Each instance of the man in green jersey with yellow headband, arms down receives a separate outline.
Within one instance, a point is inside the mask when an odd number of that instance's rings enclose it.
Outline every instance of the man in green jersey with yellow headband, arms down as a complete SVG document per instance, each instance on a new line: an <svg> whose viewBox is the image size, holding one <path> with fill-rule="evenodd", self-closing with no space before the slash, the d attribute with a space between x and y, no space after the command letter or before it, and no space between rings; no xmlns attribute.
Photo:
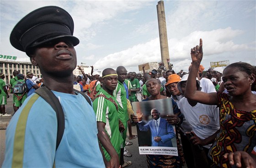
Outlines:
<svg viewBox="0 0 256 168"><path fill-rule="evenodd" d="M114 69L104 69L102 88L99 89L93 100L98 129L97 136L110 167L119 167L120 148L123 142L119 131L118 105L116 98L113 97L117 80L117 73Z"/></svg>

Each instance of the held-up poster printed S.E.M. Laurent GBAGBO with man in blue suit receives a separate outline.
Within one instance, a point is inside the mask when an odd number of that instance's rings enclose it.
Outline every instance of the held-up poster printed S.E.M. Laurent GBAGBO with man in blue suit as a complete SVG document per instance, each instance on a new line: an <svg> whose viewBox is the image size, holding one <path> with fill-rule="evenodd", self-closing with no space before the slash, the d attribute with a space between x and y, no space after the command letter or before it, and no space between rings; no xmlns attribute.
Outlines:
<svg viewBox="0 0 256 168"><path fill-rule="evenodd" d="M171 99L133 102L137 123L139 154L178 156L175 126L168 124L166 115L173 114ZM139 114L138 114L139 113Z"/></svg>

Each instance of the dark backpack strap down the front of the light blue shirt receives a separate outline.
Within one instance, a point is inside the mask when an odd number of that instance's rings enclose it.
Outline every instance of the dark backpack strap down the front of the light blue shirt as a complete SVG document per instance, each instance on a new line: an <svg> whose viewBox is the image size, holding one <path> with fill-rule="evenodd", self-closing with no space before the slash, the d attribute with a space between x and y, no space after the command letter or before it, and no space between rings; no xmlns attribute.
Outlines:
<svg viewBox="0 0 256 168"><path fill-rule="evenodd" d="M65 129L64 111L62 109L62 106L59 103L58 98L47 87L38 88L36 89L35 92L39 94L49 105L51 105L53 110L56 112L57 124L58 124L57 141L56 141L56 150L57 150Z"/></svg>

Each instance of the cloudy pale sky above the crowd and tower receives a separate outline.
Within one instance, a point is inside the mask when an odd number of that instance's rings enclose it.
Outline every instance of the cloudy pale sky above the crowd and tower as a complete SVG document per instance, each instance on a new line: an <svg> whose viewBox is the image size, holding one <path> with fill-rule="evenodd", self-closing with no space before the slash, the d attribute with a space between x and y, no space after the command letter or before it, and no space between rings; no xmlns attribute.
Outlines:
<svg viewBox="0 0 256 168"><path fill-rule="evenodd" d="M138 72L139 64L160 62L156 0L0 0L0 54L27 61L11 46L11 30L22 17L56 5L73 17L78 65L95 69L123 65ZM165 0L169 53L174 70L187 71L190 49L203 39L203 66L229 60L256 65L256 0Z"/></svg>

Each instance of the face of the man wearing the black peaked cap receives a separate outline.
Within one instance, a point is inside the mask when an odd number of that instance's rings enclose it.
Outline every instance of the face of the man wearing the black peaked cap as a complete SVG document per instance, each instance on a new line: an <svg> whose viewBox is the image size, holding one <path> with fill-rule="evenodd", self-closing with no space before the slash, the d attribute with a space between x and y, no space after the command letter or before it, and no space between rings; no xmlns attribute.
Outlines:
<svg viewBox="0 0 256 168"><path fill-rule="evenodd" d="M57 39L41 45L31 55L31 63L38 65L42 74L66 77L76 68L76 52L69 39Z"/></svg>

